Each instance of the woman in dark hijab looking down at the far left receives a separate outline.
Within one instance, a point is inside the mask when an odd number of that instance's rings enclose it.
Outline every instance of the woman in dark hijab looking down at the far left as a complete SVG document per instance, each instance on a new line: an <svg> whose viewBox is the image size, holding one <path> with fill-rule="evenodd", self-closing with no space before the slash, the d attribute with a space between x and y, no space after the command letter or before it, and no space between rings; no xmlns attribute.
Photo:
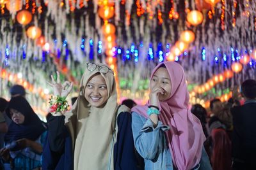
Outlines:
<svg viewBox="0 0 256 170"><path fill-rule="evenodd" d="M42 166L42 150L47 127L38 118L28 101L22 96L13 97L6 108L12 119L4 136L5 146L0 150L4 161L12 169L38 169ZM6 164L6 169L9 169Z"/></svg>

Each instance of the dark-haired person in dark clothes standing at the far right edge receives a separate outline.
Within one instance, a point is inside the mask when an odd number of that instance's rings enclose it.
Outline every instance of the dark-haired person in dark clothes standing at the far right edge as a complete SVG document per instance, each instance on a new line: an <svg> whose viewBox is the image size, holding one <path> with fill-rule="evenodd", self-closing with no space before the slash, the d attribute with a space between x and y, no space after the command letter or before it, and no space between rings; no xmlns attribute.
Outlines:
<svg viewBox="0 0 256 170"><path fill-rule="evenodd" d="M245 80L241 85L242 106L231 109L233 116L232 168L256 169L256 81Z"/></svg>

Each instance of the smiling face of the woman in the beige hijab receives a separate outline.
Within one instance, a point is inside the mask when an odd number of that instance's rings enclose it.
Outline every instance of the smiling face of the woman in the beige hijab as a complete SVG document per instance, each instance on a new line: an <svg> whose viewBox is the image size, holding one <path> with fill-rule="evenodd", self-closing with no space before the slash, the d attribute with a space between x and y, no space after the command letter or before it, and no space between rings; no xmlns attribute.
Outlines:
<svg viewBox="0 0 256 170"><path fill-rule="evenodd" d="M100 74L95 74L89 79L85 87L84 97L92 106L97 108L108 101L106 81Z"/></svg>

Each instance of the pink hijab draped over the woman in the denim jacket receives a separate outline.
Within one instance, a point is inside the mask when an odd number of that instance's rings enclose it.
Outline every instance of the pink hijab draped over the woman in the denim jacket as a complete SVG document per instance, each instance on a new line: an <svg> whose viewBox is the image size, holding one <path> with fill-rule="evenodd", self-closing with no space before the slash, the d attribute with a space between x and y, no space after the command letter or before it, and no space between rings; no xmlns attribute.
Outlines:
<svg viewBox="0 0 256 170"><path fill-rule="evenodd" d="M165 133L174 166L179 170L192 169L201 159L204 132L200 120L188 108L189 93L184 70L179 64L164 62L157 65L150 80L163 64L170 75L172 92L169 99L159 102L159 119L164 125L170 126L170 130ZM147 118L147 109L147 106L135 106L132 111Z"/></svg>

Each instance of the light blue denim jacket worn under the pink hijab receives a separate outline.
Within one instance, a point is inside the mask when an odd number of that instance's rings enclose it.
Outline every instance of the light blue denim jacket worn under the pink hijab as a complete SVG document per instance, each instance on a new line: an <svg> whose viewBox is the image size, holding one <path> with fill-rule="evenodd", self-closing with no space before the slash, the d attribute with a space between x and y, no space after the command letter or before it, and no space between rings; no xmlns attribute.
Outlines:
<svg viewBox="0 0 256 170"><path fill-rule="evenodd" d="M134 145L145 161L145 170L175 170L172 155L166 143L164 131L170 129L158 121L154 128L148 118L132 112L132 133ZM211 165L204 147L200 163L193 170L211 170Z"/></svg>

